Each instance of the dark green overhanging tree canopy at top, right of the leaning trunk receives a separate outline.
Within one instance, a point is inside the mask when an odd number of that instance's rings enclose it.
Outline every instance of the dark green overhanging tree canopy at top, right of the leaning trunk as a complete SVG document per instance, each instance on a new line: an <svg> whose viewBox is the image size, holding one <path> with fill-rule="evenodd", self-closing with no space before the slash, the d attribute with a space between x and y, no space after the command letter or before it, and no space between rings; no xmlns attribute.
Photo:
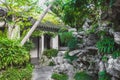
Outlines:
<svg viewBox="0 0 120 80"><path fill-rule="evenodd" d="M99 9L104 10L106 0L57 0L52 11L67 25L79 28L86 18L99 16Z"/></svg>

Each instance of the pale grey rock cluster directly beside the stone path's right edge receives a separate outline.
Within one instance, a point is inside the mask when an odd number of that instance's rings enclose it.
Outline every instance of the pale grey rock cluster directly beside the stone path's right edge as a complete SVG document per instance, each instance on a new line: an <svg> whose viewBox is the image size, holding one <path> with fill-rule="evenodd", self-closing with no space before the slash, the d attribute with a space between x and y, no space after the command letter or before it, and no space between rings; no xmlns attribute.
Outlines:
<svg viewBox="0 0 120 80"><path fill-rule="evenodd" d="M53 58L55 66L53 67L53 72L55 73L65 73L69 76L69 80L73 80L74 67L64 59L64 53L59 52L58 56Z"/></svg>

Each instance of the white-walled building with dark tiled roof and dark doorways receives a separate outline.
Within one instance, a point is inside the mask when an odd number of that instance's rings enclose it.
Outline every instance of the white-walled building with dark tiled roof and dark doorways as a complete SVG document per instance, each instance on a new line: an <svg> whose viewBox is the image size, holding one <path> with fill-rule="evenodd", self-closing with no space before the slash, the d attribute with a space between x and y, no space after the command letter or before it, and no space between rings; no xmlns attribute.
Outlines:
<svg viewBox="0 0 120 80"><path fill-rule="evenodd" d="M48 32L57 32L61 26L53 25L51 23L43 24L37 27L36 30L48 31ZM59 35L55 35L54 37L43 34L42 36L31 38L32 42L34 43L34 48L30 51L32 58L40 59L43 51L46 49L57 49L57 50L65 50L67 49L64 44L61 43Z"/></svg>

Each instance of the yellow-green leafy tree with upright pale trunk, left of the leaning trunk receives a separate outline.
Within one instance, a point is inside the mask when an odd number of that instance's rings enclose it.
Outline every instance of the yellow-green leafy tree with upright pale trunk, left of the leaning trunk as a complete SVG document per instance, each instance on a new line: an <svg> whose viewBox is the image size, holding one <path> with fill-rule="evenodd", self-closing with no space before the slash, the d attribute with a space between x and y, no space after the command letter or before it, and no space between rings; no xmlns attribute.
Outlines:
<svg viewBox="0 0 120 80"><path fill-rule="evenodd" d="M25 26L30 26L29 17L36 18L41 9L38 0L1 0L0 6L5 8L4 17L8 27L8 38L16 39L17 34Z"/></svg>

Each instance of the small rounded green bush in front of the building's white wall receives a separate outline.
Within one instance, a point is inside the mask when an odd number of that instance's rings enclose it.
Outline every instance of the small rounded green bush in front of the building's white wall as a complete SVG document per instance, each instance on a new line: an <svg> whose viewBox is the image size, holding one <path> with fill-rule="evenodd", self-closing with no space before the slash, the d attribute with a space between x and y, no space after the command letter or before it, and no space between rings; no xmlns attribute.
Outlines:
<svg viewBox="0 0 120 80"><path fill-rule="evenodd" d="M56 49L48 49L43 52L45 56L47 56L49 59L52 57L56 57L58 54L58 50Z"/></svg>

